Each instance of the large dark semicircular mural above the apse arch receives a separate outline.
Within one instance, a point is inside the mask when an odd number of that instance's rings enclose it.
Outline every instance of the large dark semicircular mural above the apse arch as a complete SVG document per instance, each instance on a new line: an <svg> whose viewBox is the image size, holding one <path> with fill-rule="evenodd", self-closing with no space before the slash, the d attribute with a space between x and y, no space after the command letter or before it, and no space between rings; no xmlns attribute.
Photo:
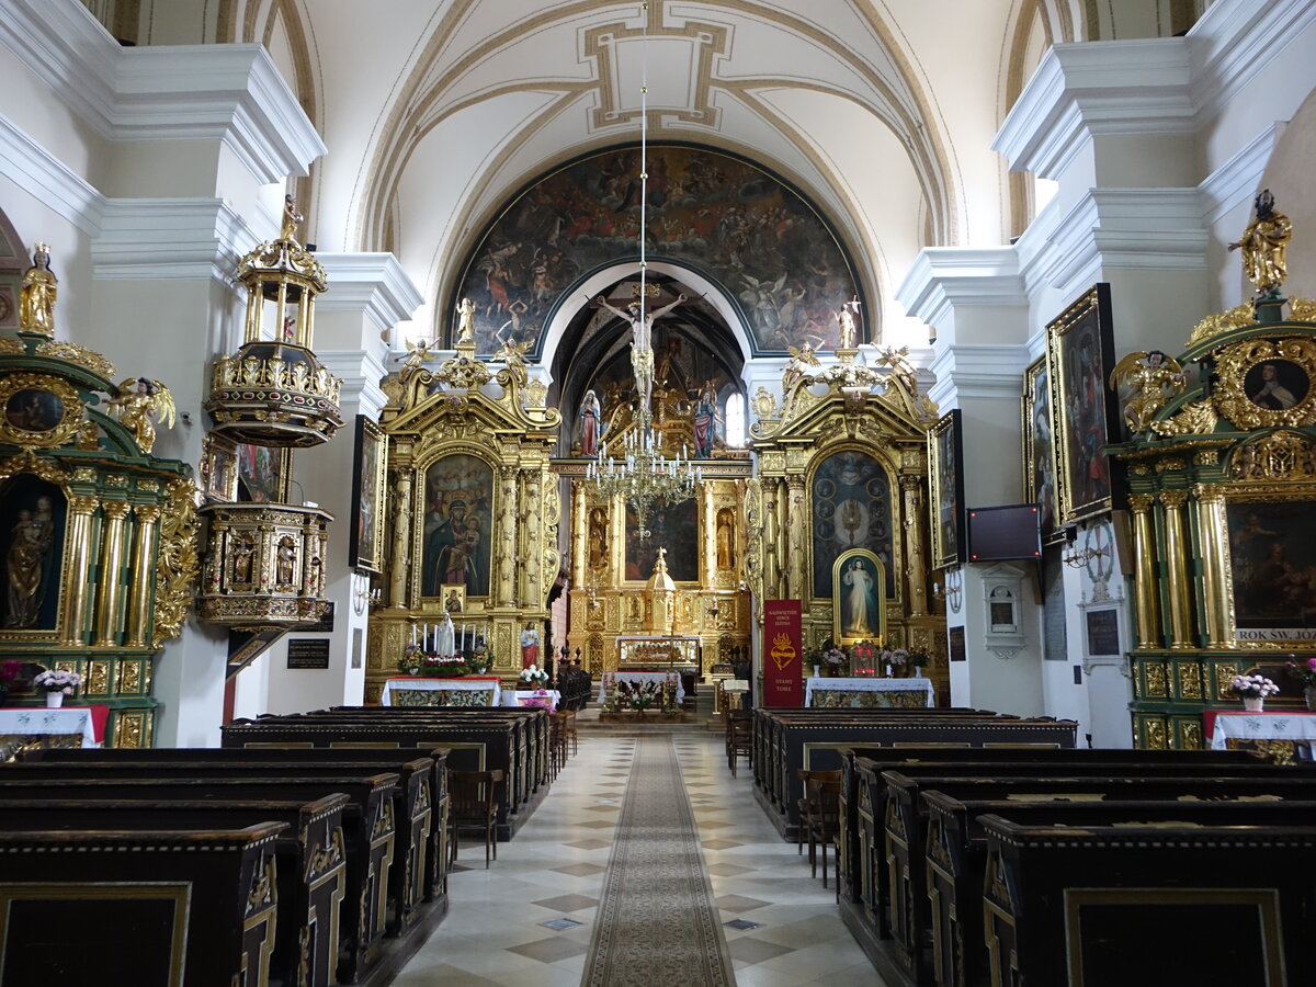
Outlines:
<svg viewBox="0 0 1316 987"><path fill-rule="evenodd" d="M840 345L836 313L858 286L809 203L767 172L707 149L650 146L647 174L650 262L670 261L717 282L758 353L784 353L805 340L816 349ZM595 154L541 179L499 216L467 262L457 299L475 303L476 350L496 350L501 332L536 341L538 351L562 299L590 272L638 259L638 238L637 149Z"/></svg>

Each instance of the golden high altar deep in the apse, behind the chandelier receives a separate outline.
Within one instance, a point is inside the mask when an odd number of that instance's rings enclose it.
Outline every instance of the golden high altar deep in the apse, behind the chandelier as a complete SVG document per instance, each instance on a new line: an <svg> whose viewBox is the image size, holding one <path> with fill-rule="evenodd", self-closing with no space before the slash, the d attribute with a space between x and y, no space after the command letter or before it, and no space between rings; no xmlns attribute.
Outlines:
<svg viewBox="0 0 1316 987"><path fill-rule="evenodd" d="M657 451L692 446L694 408L659 386L649 421ZM621 403L608 445L625 449L645 422ZM750 604L744 501L751 472L746 450L719 447L699 465L694 494L649 505L637 516L625 497L600 496L579 463L571 478L571 630L567 647L596 679L611 671L712 672L749 654ZM649 532L641 536L641 529Z"/></svg>

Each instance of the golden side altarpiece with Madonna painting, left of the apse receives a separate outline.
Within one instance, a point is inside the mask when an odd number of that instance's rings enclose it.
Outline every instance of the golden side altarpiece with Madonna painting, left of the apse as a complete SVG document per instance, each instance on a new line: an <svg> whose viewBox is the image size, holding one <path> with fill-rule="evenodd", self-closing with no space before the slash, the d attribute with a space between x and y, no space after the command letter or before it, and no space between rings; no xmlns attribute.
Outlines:
<svg viewBox="0 0 1316 987"><path fill-rule="evenodd" d="M503 676L521 670L522 629L547 620L561 562L549 457L562 418L545 407L547 388L529 379L522 353L504 346L491 367L462 338L428 368L420 345L384 380L388 482L367 703L397 674L416 629L438 624L445 607L459 638L487 642L490 671Z"/></svg>

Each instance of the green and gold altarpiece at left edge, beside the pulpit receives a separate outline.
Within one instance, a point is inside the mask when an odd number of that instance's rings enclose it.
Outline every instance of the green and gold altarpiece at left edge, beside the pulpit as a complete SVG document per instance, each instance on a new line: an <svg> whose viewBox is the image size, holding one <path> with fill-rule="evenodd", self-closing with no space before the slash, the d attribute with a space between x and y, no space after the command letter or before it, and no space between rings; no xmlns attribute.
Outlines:
<svg viewBox="0 0 1316 987"><path fill-rule="evenodd" d="M105 744L145 747L153 662L178 637L197 572L197 490L187 463L151 455L154 418L171 424L168 390L114 384L109 361L54 337L45 247L37 257L24 328L0 337L0 661L20 670L8 704L43 705L32 676L71 671L75 701L108 707ZM21 741L0 737L0 761Z"/></svg>

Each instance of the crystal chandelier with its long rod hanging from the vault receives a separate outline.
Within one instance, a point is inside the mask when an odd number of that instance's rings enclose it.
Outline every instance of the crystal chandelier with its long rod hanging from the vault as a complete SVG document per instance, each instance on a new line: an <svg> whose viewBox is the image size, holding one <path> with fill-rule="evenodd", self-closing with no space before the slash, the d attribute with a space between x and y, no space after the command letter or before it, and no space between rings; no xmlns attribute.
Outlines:
<svg viewBox="0 0 1316 987"><path fill-rule="evenodd" d="M636 374L636 391L640 401L640 428L628 432L622 441L620 457L608 455L608 443L600 442L594 462L586 467L586 480L599 497L621 497L636 512L638 536L647 538L649 515L655 507L679 504L691 497L695 484L703 479L703 471L690 462L684 454L667 458L653 429L653 340L649 321L653 316L645 312L649 292L645 287L647 262L645 257L645 229L649 209L649 4L641 4L642 66L640 75L640 297L636 301L636 317L632 318L634 342L630 347L630 363Z"/></svg>

